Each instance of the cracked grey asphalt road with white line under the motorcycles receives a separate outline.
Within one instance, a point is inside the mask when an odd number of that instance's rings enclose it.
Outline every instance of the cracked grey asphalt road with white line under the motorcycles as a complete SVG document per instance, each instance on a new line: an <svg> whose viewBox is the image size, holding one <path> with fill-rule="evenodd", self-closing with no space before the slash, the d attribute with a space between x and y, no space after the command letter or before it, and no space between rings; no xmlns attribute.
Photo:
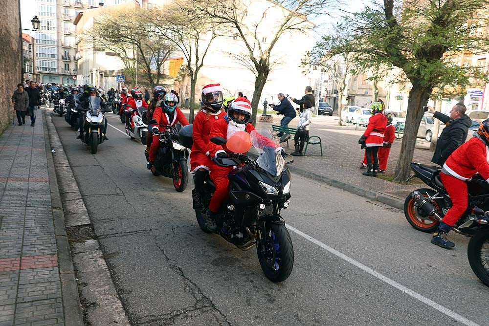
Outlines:
<svg viewBox="0 0 489 326"><path fill-rule="evenodd" d="M95 155L53 117L132 325L489 325L489 288L454 250L429 243L401 211L300 176L282 211L295 264L271 283L195 220L191 189L145 167L144 147L107 115ZM325 167L326 168L326 167Z"/></svg>

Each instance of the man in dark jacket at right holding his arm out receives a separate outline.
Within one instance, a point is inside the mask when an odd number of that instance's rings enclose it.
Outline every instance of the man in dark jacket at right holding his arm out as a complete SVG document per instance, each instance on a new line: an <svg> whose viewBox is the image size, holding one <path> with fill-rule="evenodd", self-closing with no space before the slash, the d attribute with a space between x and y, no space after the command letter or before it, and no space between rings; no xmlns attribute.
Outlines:
<svg viewBox="0 0 489 326"><path fill-rule="evenodd" d="M443 166L450 154L462 145L467 139L468 128L472 121L465 114L467 108L463 103L457 103L450 110L450 116L435 111L428 107L429 112L434 113L433 117L442 121L446 127L438 138L435 154L431 162Z"/></svg>

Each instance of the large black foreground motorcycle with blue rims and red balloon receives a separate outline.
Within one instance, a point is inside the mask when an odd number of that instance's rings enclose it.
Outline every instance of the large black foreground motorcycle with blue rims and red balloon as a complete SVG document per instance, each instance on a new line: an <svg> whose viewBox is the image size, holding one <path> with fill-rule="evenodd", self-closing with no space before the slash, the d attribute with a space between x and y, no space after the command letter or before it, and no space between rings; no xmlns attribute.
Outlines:
<svg viewBox="0 0 489 326"><path fill-rule="evenodd" d="M185 126L181 131L186 128L190 127ZM290 204L291 174L285 164L292 157L284 159L275 146L264 145L264 137L279 146L277 136L270 130L252 131L251 143L259 153L256 160L244 154L213 159L219 166L237 167L228 175L229 196L221 205L216 223L218 234L239 249L256 246L265 276L272 282L283 282L289 278L294 264L292 240L280 214ZM212 137L210 141L218 145L227 142L221 137ZM206 233L210 231L203 215L215 189L207 175L203 194L192 194L197 223Z"/></svg>

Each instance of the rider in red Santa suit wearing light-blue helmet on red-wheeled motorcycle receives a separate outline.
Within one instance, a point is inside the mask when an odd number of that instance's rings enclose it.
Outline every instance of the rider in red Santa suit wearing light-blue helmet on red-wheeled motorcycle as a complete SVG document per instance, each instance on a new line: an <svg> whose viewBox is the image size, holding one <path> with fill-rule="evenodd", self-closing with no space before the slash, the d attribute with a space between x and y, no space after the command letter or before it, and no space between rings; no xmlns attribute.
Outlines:
<svg viewBox="0 0 489 326"><path fill-rule="evenodd" d="M148 170L151 169L156 158L156 151L159 147L159 132L165 131L165 126L174 126L177 123L182 126L189 124L183 112L177 107L177 101L177 96L173 93L167 93L163 97L163 101L158 101L160 104L157 105L153 113L153 119L156 120L156 124L153 124L152 127L153 141L151 143L148 164L146 164Z"/></svg>

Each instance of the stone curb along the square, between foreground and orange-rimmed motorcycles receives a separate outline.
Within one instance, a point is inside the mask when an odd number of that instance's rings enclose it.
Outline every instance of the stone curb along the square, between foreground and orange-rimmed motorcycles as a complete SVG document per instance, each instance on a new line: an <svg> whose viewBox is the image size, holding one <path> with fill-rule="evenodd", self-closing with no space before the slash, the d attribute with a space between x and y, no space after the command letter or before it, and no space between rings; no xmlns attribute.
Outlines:
<svg viewBox="0 0 489 326"><path fill-rule="evenodd" d="M316 174L316 173L313 173L310 171L306 171L304 169L297 168L297 167L293 166L292 164L289 165L289 169L290 169L290 172L294 172L296 174L305 176L305 177L310 178L310 179L319 180L321 182L329 184L330 186L346 190L352 194L367 197L367 198L373 199L373 200L377 200L378 202L381 202L383 204L389 205L391 207L394 207L394 208L397 208L400 210L404 209L404 201L399 199L399 198L389 196L389 195L385 195L385 194L376 192L374 190L364 189L362 187L352 185L350 183L346 183L343 181L338 181L338 180L332 179L328 176L324 176L324 175Z"/></svg>

